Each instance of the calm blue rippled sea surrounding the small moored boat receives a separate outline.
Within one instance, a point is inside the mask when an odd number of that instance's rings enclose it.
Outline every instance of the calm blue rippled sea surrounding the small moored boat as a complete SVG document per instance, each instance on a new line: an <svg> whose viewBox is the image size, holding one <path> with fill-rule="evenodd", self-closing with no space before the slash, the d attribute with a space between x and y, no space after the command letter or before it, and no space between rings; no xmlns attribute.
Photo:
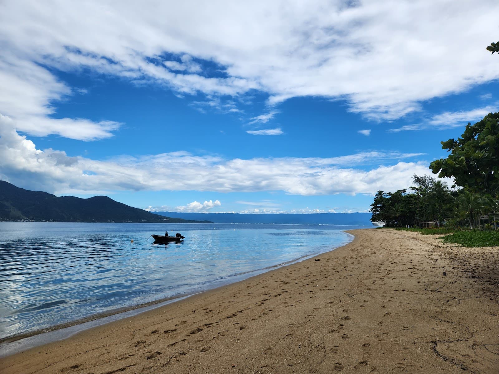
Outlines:
<svg viewBox="0 0 499 374"><path fill-rule="evenodd" d="M349 228L362 226L0 222L0 338L248 278ZM165 229L184 241L153 244Z"/></svg>

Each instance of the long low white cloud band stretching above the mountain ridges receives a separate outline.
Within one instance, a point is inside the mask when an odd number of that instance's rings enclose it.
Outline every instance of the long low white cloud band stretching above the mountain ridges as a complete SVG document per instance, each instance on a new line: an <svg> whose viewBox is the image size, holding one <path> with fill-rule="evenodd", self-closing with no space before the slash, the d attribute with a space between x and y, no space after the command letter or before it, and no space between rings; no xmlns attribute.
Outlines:
<svg viewBox="0 0 499 374"><path fill-rule="evenodd" d="M344 157L254 158L225 160L171 152L106 161L68 157L39 150L19 136L13 121L0 117L0 174L14 185L57 194L68 191L198 190L216 192L284 191L324 195L375 193L411 184L417 175L432 175L425 162L401 162L417 154L370 152ZM376 163L374 160L378 160ZM380 162L385 165L378 166ZM386 165L388 161L396 162ZM375 165L368 170L355 165ZM158 173L165 170L168 173ZM432 175L433 176L433 175ZM213 202L216 204L217 200ZM198 203L201 204L201 203ZM203 206L210 206L203 203ZM189 205L187 205L189 206ZM192 205L191 208L199 206ZM215 205L214 205L215 206Z"/></svg>

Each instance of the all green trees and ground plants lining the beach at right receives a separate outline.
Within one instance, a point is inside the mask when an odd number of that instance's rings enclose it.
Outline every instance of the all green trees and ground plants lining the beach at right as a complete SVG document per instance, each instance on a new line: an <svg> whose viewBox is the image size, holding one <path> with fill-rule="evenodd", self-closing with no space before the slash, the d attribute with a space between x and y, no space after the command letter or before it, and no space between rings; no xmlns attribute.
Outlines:
<svg viewBox="0 0 499 374"><path fill-rule="evenodd" d="M499 113L470 123L458 140L441 142L451 154L430 169L455 186L428 176L413 176L414 186L377 191L371 221L411 227L423 234L450 234L444 241L466 246L499 246Z"/></svg>

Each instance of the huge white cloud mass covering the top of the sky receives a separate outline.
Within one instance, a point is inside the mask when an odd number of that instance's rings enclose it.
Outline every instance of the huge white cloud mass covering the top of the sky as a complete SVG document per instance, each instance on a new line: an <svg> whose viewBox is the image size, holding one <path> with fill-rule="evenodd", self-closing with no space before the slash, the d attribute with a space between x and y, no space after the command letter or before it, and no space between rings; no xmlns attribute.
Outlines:
<svg viewBox="0 0 499 374"><path fill-rule="evenodd" d="M47 66L86 68L180 95L256 90L269 95L270 105L300 96L345 99L352 112L393 120L420 110L425 100L499 78L497 59L484 51L484 35L497 32L497 13L493 0L149 1L140 7L5 0L0 113L46 116L70 94ZM480 27L463 27L470 19ZM459 40L459 58L450 40Z"/></svg>

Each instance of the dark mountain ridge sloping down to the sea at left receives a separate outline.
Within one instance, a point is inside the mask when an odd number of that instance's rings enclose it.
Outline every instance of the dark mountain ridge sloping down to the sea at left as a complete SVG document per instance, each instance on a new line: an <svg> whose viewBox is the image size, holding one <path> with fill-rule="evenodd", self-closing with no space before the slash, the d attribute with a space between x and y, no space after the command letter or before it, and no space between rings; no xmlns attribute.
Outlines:
<svg viewBox="0 0 499 374"><path fill-rule="evenodd" d="M0 220L213 223L154 214L107 196L57 197L47 192L15 187L5 181L0 181Z"/></svg>

